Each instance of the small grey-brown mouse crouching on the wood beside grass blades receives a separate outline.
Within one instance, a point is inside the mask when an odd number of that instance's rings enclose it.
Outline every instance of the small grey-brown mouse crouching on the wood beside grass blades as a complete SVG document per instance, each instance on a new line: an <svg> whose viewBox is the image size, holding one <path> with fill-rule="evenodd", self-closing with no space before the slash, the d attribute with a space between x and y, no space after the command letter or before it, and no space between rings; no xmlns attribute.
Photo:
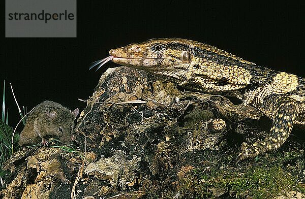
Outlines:
<svg viewBox="0 0 305 199"><path fill-rule="evenodd" d="M27 116L19 146L36 145L40 141L43 146L48 146L47 137L50 136L57 136L63 144L73 141L74 121L78 113L78 108L71 111L56 102L40 103Z"/></svg>

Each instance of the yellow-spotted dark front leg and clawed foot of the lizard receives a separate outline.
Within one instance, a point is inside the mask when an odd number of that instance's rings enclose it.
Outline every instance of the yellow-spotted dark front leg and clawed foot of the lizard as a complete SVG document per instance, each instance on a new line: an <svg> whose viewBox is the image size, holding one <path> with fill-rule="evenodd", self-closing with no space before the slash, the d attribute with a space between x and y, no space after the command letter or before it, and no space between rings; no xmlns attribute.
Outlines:
<svg viewBox="0 0 305 199"><path fill-rule="evenodd" d="M293 127L293 122L299 112L295 100L287 96L279 96L273 104L272 127L270 133L263 141L252 145L242 143L236 163L242 159L257 156L260 153L277 149L287 140Z"/></svg>

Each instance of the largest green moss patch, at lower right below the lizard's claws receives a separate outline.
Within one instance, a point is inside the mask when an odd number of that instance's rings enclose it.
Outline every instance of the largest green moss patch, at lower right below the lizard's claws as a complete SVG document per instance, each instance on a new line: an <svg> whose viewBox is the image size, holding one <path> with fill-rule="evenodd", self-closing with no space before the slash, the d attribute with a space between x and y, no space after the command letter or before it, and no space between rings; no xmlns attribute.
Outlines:
<svg viewBox="0 0 305 199"><path fill-rule="evenodd" d="M186 198L225 195L237 198L247 195L254 198L271 198L290 190L305 193L304 185L298 183L297 179L283 168L265 168L255 164L249 165L246 171L243 171L243 168L215 167L209 171L206 168L197 168L180 179L179 185L179 191Z"/></svg>

